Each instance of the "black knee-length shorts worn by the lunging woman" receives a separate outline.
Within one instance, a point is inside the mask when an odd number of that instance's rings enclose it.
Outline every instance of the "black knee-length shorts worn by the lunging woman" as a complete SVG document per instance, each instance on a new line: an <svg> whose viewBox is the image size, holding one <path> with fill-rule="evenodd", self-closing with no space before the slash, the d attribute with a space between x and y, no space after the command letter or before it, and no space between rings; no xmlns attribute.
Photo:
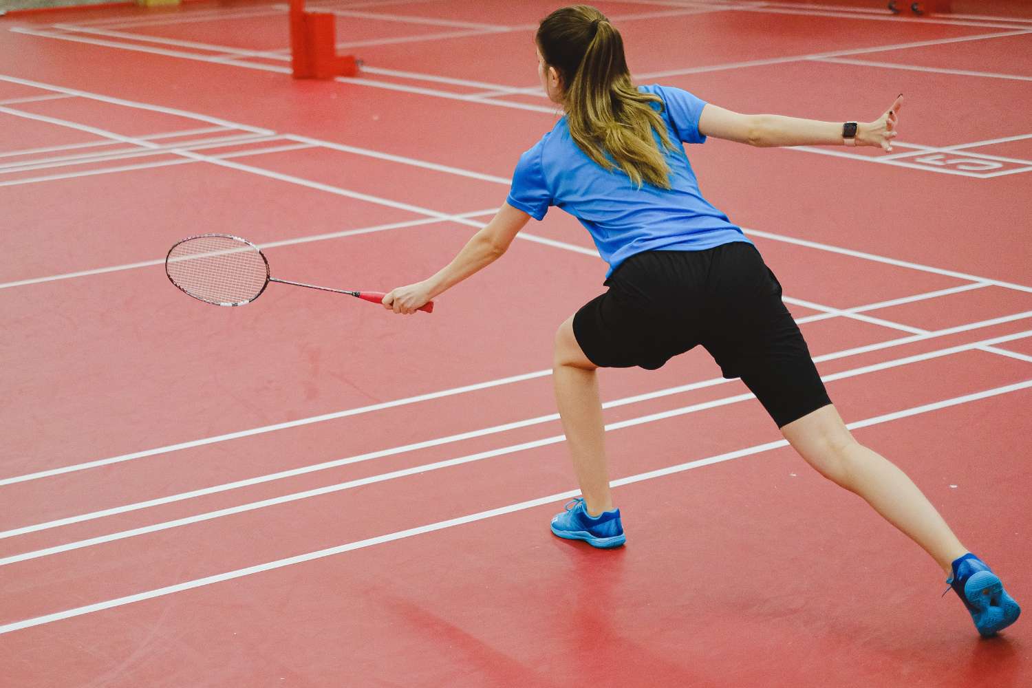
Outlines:
<svg viewBox="0 0 1032 688"><path fill-rule="evenodd" d="M831 403L781 285L751 243L648 251L606 280L574 316L600 367L654 370L702 345L724 378L741 378L778 427Z"/></svg>

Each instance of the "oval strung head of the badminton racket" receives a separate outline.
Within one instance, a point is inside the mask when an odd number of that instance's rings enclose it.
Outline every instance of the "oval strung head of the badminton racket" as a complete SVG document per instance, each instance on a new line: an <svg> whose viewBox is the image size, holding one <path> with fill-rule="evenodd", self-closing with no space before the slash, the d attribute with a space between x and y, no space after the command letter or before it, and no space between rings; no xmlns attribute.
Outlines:
<svg viewBox="0 0 1032 688"><path fill-rule="evenodd" d="M218 304L254 300L268 279L268 267L258 249L232 236L187 239L169 252L165 269L187 294Z"/></svg>

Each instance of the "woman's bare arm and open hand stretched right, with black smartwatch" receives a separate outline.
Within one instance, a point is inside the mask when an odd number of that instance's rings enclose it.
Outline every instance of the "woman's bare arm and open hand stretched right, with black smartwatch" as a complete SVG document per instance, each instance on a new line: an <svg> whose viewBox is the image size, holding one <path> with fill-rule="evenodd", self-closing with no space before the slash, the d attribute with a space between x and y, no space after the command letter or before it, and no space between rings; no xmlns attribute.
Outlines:
<svg viewBox="0 0 1032 688"><path fill-rule="evenodd" d="M857 127L857 145L879 145L892 151L903 95L874 122ZM842 122L801 120L781 114L741 114L707 103L699 118L699 133L757 146L843 145Z"/></svg>

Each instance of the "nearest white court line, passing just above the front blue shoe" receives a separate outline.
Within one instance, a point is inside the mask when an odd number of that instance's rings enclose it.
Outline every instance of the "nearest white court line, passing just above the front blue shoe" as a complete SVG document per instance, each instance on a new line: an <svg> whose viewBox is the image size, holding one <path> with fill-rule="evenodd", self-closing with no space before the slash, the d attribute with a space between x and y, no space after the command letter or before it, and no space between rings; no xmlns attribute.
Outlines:
<svg viewBox="0 0 1032 688"><path fill-rule="evenodd" d="M982 392L976 392L974 394L966 394L964 396L954 397L950 399L944 399L942 401L937 401L934 403L928 403L921 406L913 406L911 408L906 408L903 411L894 412L891 414L885 414L882 416L877 416L874 418L868 418L862 421L854 421L852 423L846 424L846 427L850 430L860 429L864 427L870 427L873 425L879 425L881 423L888 423L891 421L899 420L902 418L909 418L912 416L917 416L921 414L931 413L934 411L939 411L942 408L947 408L949 406L956 406L964 403L969 403L979 399L986 399L993 396L1007 394L1010 392L1015 392L1019 390L1027 389L1032 387L1032 381L1026 381L1023 383L1018 383L1014 385L1007 385L1004 387L997 387L990 390L985 390ZM716 456L711 456L705 459L699 459L696 461L689 461L686 463L681 463L674 466L669 466L666 468L659 468L657 470L650 470L648 472L638 473L636 476L628 476L626 478L621 478L613 481L611 484L614 487L619 487L622 485L631 485L633 483L640 483L647 480L652 480L655 478L662 478L665 476L671 476L674 473L682 472L685 470L690 470L692 468L699 468L705 465L711 465L714 463L719 463L722 461L729 461L732 459L741 458L743 456L749 456L754 454L760 454L763 452L778 449L780 447L786 447L787 441L780 439L777 441L766 443L763 445L755 445L746 449L738 450L735 452L729 452L727 454L719 454ZM32 619L25 619L23 621L15 621L12 623L4 624L0 626L0 634L9 633L15 630L21 630L24 628L31 628L33 626L39 626L42 624L53 623L55 621L61 621L63 619L70 619L73 617L83 616L85 614L91 614L94 612L100 612L103 610L108 610L117 607L123 607L125 604L131 604L133 602L143 601L147 599L154 599L155 597L162 597L165 595L170 595L176 592L183 592L185 590L192 590L195 588L200 588L203 586L213 585L215 583L221 583L224 581L230 581L245 576L251 576L253 574L259 574L266 570L272 570L276 568L283 568L285 566L290 566L293 564L303 563L305 561L312 561L315 559L322 559L324 557L332 556L335 554L343 554L344 552L350 552L353 550L359 550L367 547L373 547L376 545L382 545L384 543L390 543L397 539L402 539L406 537L412 537L414 535L420 535L428 532L433 532L436 530L442 530L445 528L451 528L454 526L464 525L466 523L474 523L476 521L482 521L484 519L493 518L495 516L503 516L506 514L512 514L514 512L519 512L527 509L533 509L536 506L542 506L544 504L549 504L557 501L562 501L565 499L570 499L571 497L580 494L578 490L570 490L567 492L561 492L558 494L552 494L545 497L540 497L538 499L531 499L528 501L522 501L515 504L509 504L508 506L502 506L498 509L492 509L489 511L479 512L477 514L470 514L467 516L462 516L459 518L448 519L446 521L438 521L436 523L419 526L416 528L409 528L406 530L399 530L396 532L388 533L386 535L379 535L377 537L369 537L366 539L361 539L353 543L348 543L346 545L341 545L337 547L327 548L323 550L318 550L316 552L310 552L307 554L301 554L293 557L288 557L285 559L278 559L276 561L268 561L262 564L256 564L254 566L248 566L246 568L238 568L232 571L226 571L224 574L218 574L216 576L207 576L200 579L195 579L193 581L188 581L185 583L180 583L176 585L170 585L163 588L157 588L154 590L148 590L146 592L136 593L133 595L127 595L124 597L119 597L116 599L108 599L102 602L96 602L93 604L87 604L84 607L78 607L75 609L64 610L61 612L56 612L54 614L47 614L44 616L35 617Z"/></svg>

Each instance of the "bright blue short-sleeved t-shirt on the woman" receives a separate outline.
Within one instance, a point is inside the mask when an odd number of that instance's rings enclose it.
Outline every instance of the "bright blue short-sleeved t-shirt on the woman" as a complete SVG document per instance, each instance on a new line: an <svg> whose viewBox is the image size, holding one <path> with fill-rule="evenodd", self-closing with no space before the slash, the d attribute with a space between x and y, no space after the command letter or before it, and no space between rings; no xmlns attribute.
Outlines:
<svg viewBox="0 0 1032 688"><path fill-rule="evenodd" d="M706 103L687 91L642 86L663 99L664 122L671 141L702 143L699 117ZM654 104L659 108L659 104ZM653 132L656 144L659 137ZM609 263L608 277L620 263L643 251L703 251L732 241L747 241L741 228L699 192L699 183L680 145L664 150L671 189L643 184L639 189L619 168L606 170L587 157L559 120L529 151L513 173L508 203L536 220L556 205L580 220Z"/></svg>

